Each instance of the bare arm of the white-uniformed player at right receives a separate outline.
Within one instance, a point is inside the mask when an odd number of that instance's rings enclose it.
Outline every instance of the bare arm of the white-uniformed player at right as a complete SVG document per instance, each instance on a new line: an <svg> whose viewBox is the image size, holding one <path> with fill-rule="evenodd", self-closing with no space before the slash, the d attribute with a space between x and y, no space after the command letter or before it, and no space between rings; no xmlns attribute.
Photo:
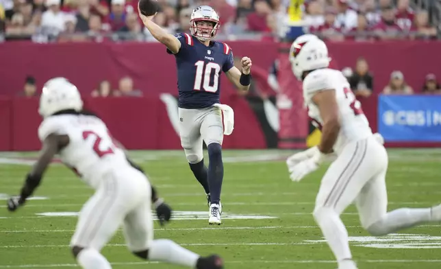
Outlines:
<svg viewBox="0 0 441 269"><path fill-rule="evenodd" d="M335 90L319 91L312 97L323 119L322 139L318 149L325 154L332 152L340 131L340 120L338 118L338 104Z"/></svg>

